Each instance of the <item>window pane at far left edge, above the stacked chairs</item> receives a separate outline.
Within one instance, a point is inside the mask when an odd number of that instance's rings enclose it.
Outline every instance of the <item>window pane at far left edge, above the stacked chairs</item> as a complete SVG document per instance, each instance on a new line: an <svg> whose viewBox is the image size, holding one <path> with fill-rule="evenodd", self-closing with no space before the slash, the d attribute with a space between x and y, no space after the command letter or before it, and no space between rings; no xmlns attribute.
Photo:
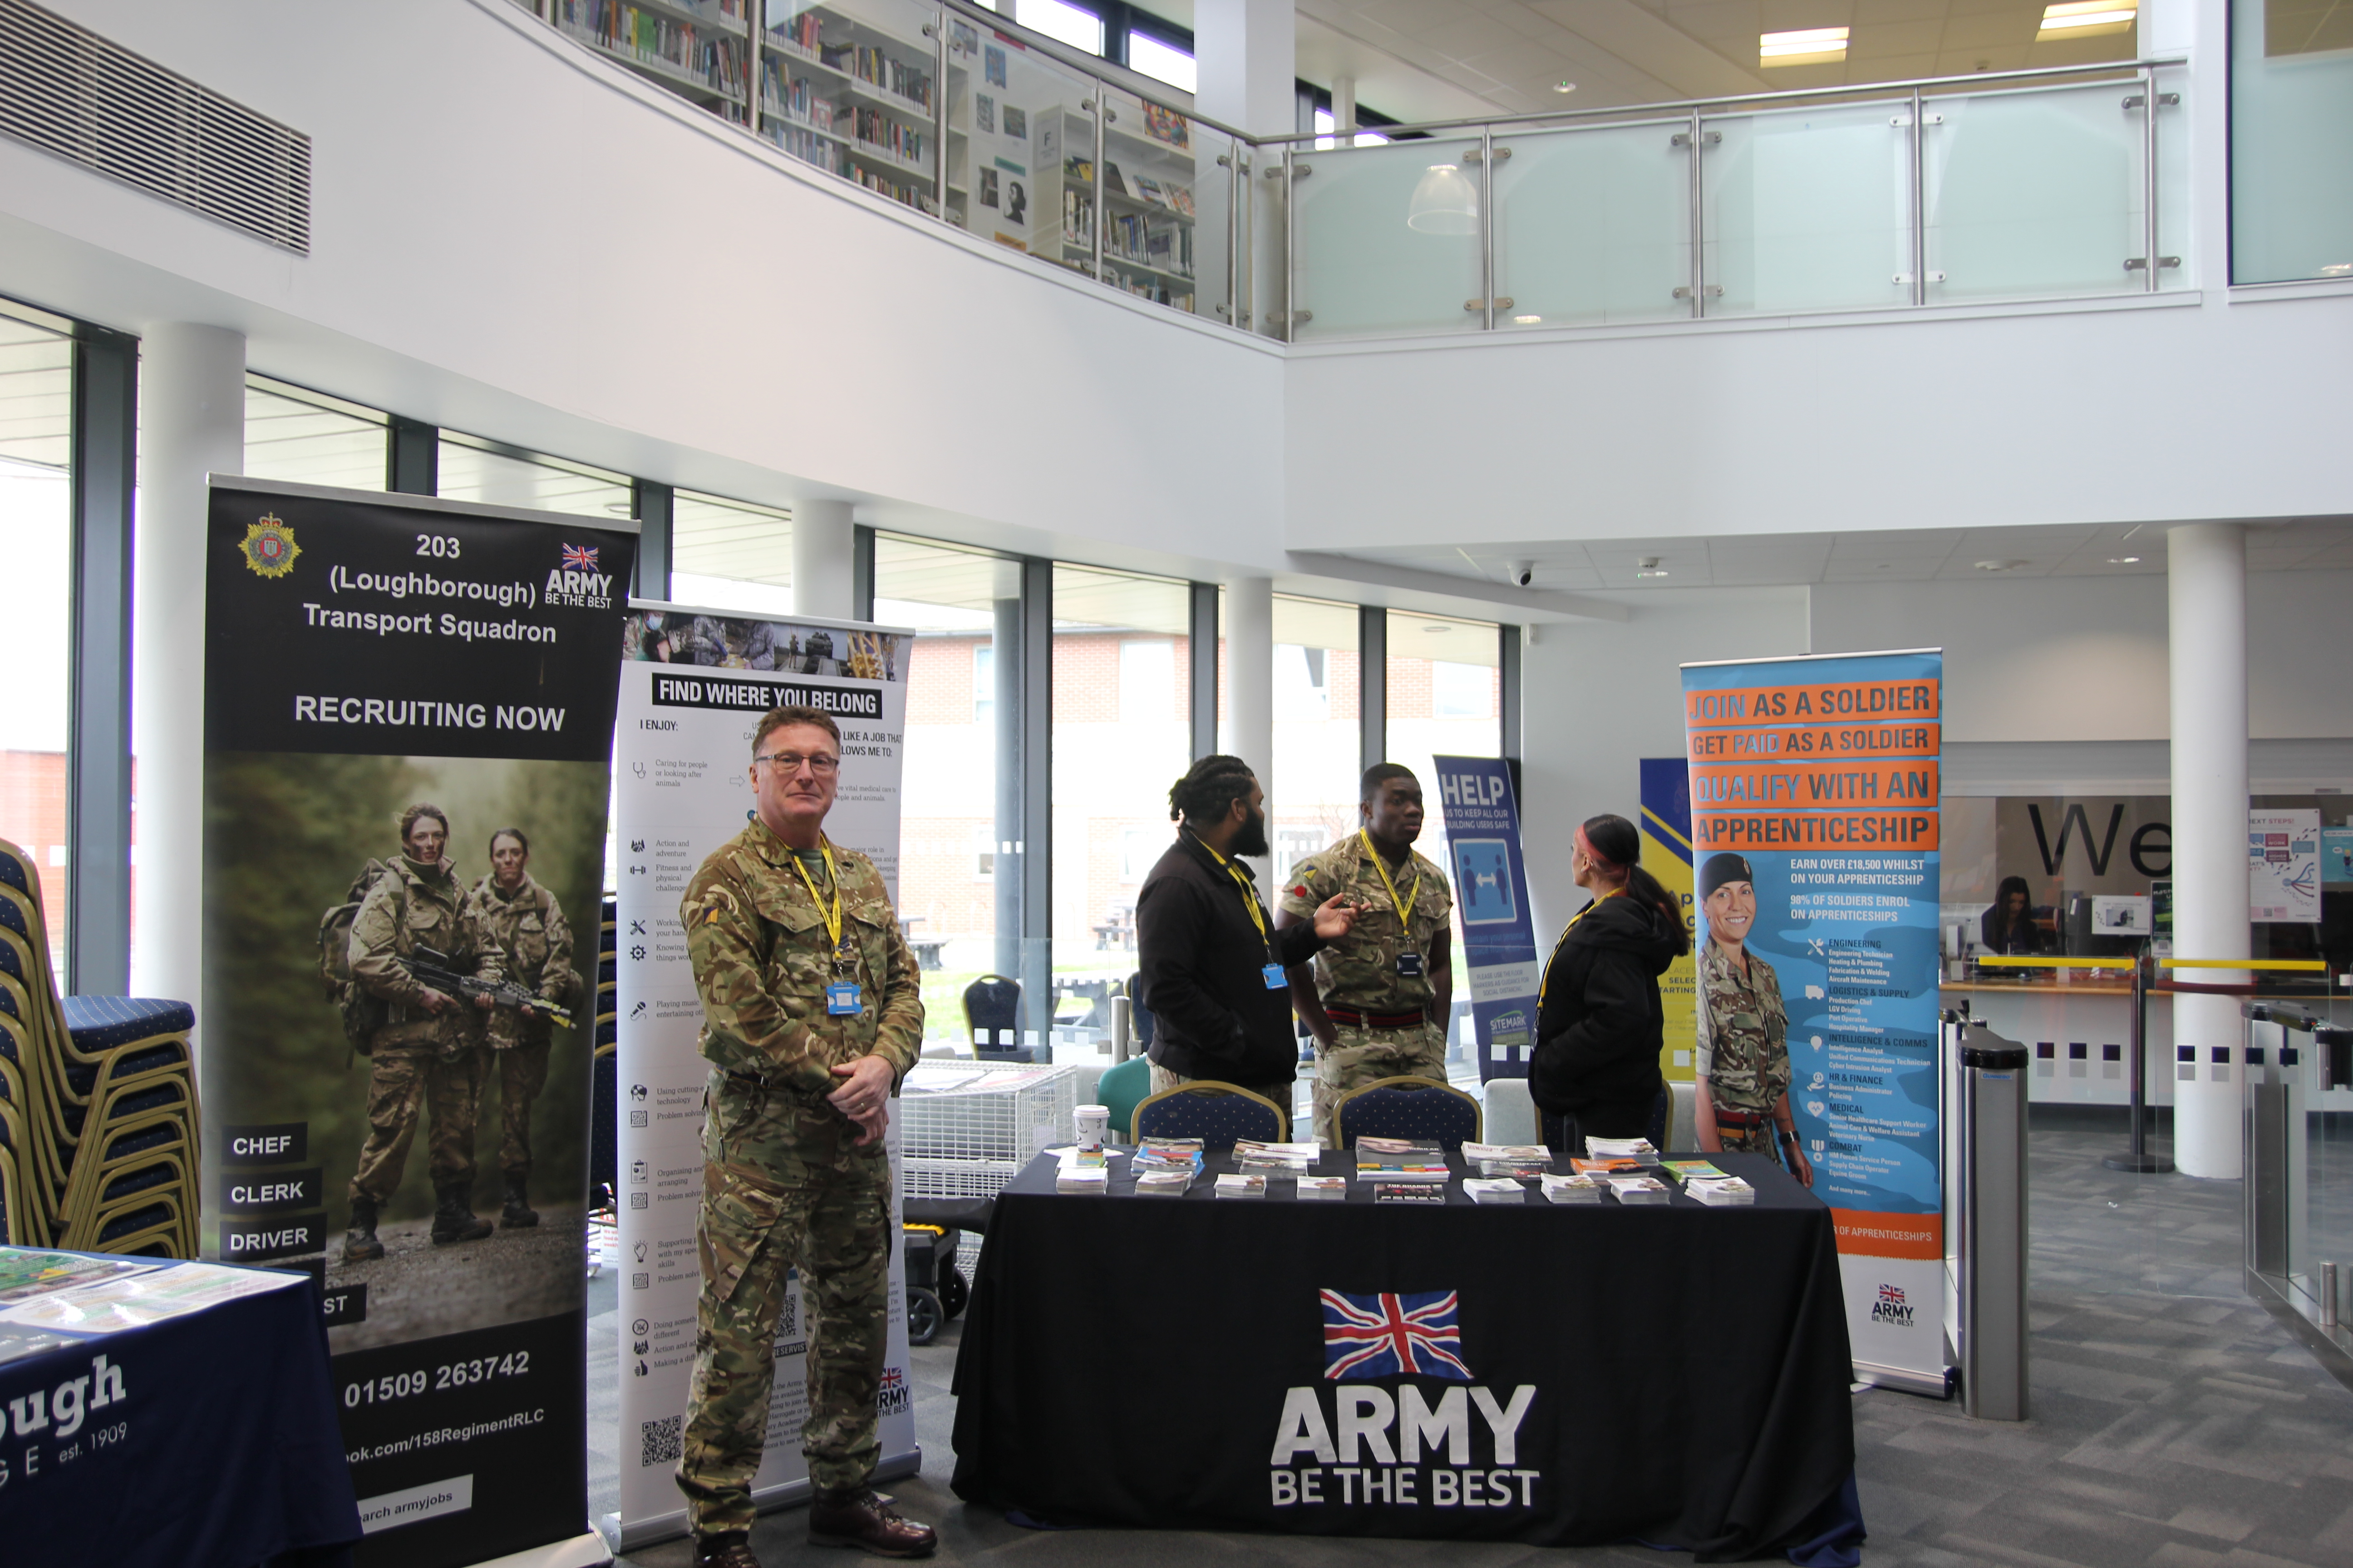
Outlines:
<svg viewBox="0 0 2353 1568"><path fill-rule="evenodd" d="M64 971L73 341L59 327L0 306L0 559L14 632L0 682L0 837L40 867Z"/></svg>

